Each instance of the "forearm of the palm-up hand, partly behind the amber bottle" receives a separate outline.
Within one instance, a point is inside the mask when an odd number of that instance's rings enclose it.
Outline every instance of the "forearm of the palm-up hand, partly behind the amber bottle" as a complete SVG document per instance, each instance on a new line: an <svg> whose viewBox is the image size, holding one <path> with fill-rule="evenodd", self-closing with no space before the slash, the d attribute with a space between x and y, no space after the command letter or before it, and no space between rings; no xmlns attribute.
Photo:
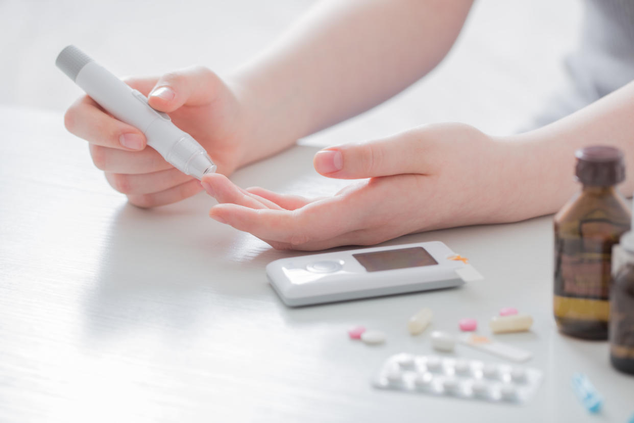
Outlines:
<svg viewBox="0 0 634 423"><path fill-rule="evenodd" d="M525 174L514 179L524 195L521 218L557 211L579 190L573 180L574 152L589 145L612 145L623 150L626 180L619 186L630 196L634 190L634 82L553 124L511 137L522 150Z"/></svg>

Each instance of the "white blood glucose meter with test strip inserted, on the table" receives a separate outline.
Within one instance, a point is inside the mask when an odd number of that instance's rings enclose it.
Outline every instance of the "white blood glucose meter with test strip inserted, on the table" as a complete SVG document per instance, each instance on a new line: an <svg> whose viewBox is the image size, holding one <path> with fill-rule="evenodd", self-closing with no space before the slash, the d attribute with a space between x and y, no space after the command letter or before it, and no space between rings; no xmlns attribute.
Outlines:
<svg viewBox="0 0 634 423"><path fill-rule="evenodd" d="M442 242L327 252L272 261L266 275L288 306L457 287L482 279Z"/></svg>

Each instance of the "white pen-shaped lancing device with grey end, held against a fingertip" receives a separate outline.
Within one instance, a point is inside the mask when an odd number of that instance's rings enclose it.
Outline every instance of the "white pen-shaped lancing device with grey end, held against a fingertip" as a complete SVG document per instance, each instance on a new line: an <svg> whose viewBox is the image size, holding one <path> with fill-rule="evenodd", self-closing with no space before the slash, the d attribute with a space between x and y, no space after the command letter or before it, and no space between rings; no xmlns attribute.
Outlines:
<svg viewBox="0 0 634 423"><path fill-rule="evenodd" d="M190 134L174 125L167 114L150 107L143 94L77 47L64 48L55 65L108 113L143 132L148 145L179 171L197 179L216 171L205 149Z"/></svg>

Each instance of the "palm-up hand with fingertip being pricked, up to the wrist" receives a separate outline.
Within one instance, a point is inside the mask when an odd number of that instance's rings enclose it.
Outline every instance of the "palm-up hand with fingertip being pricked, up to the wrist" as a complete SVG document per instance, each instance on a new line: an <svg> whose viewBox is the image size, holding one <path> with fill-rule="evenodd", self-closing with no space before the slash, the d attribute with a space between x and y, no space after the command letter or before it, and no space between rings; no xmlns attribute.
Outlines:
<svg viewBox="0 0 634 423"><path fill-rule="evenodd" d="M517 157L511 143L463 124L434 124L382 140L316 153L315 169L358 179L333 197L243 190L221 174L203 178L220 204L209 215L275 249L371 245L406 233L508 220ZM501 204L504 202L505 204Z"/></svg>

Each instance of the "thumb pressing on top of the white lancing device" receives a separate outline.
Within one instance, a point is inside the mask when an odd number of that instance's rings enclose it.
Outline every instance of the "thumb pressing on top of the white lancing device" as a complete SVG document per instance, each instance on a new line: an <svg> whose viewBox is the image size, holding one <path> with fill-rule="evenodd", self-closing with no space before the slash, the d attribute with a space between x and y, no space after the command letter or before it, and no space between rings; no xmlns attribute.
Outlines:
<svg viewBox="0 0 634 423"><path fill-rule="evenodd" d="M210 103L223 84L208 68L193 66L169 72L159 78L148 103L160 112L174 112L183 105Z"/></svg>

